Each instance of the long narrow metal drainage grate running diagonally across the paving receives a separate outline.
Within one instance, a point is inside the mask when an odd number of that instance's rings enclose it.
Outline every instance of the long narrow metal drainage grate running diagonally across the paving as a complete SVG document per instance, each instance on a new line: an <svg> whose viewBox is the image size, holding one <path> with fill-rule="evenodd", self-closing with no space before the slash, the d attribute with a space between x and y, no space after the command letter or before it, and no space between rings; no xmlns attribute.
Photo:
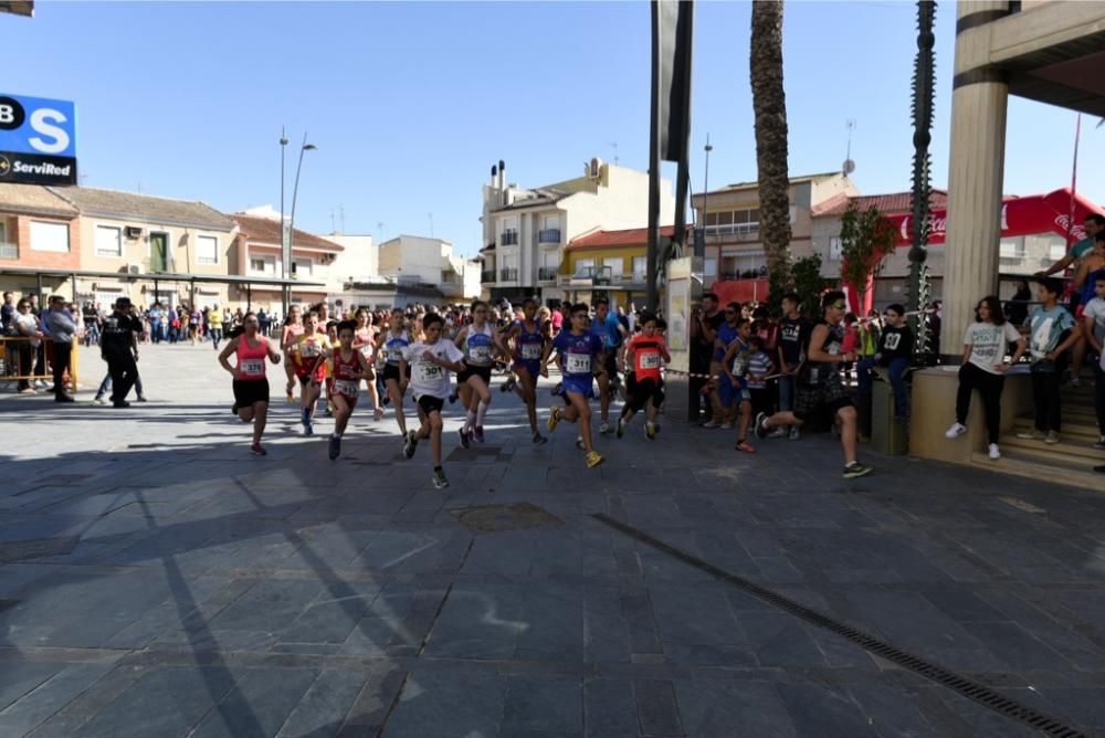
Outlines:
<svg viewBox="0 0 1105 738"><path fill-rule="evenodd" d="M638 530L636 528L625 525L619 520L614 520L608 515L597 513L592 517L600 523L610 526L614 530L625 534L630 538L661 550L672 558L678 559L680 561L692 566L699 571L704 571L713 577L716 577L728 584L733 584L737 589L744 590L768 604L775 605L783 612L788 612L796 618L801 618L806 622L817 625L818 628L823 628L827 631L836 633L838 635L852 641L853 643L885 658L888 662L904 666L912 672L916 672L930 682L946 686L949 689L954 689L959 694L974 699L980 705L989 707L996 713L1000 713L1006 717L1023 723L1034 730L1039 730L1040 732L1049 736L1056 736L1057 738L1085 738L1086 736L1085 732L1078 730L1077 728L1072 728L1060 723L1055 718L1038 713L1033 708L1022 705L1014 699L1010 699L1001 693L994 692L978 682L974 682L965 676L956 674L955 672L950 672L943 666L937 666L936 664L925 661L919 656L914 656L911 653L896 649L881 639L876 639L875 636L869 635L863 631L845 625L840 621L833 620L829 615L818 612L811 608L807 608L804 604L796 602L794 600L786 598L777 592L772 592L771 590L748 581L743 577L738 577L737 574L720 569L708 561L704 561L682 549L665 544L659 538L653 538L644 531Z"/></svg>

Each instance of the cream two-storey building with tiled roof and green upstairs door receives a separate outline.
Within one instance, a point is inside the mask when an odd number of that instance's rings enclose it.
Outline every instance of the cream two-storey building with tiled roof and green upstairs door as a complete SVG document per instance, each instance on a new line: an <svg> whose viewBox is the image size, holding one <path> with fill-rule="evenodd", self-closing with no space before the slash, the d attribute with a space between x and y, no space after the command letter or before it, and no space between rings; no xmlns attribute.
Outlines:
<svg viewBox="0 0 1105 738"><path fill-rule="evenodd" d="M225 305L227 285L187 277L228 274L234 221L204 202L90 187L49 188L80 217L77 298L108 305ZM164 275L164 276L162 276Z"/></svg>

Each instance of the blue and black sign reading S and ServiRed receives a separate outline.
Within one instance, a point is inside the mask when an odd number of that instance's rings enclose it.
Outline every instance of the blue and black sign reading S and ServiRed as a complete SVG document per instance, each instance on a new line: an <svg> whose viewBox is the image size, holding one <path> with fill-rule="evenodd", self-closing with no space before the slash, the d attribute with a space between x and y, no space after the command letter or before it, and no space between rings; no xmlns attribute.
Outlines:
<svg viewBox="0 0 1105 738"><path fill-rule="evenodd" d="M76 184L73 103L0 93L0 182Z"/></svg>

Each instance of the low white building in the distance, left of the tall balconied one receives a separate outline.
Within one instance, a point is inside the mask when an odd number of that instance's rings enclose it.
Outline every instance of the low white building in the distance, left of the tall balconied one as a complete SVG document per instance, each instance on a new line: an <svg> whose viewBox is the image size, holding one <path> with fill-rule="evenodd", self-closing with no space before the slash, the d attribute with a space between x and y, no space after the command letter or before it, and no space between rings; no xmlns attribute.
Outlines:
<svg viewBox="0 0 1105 738"><path fill-rule="evenodd" d="M400 284L432 285L441 291L446 302L471 297L465 274L469 270L478 273L480 268L454 255L451 242L420 235L400 235L385 241L377 259L380 276Z"/></svg>

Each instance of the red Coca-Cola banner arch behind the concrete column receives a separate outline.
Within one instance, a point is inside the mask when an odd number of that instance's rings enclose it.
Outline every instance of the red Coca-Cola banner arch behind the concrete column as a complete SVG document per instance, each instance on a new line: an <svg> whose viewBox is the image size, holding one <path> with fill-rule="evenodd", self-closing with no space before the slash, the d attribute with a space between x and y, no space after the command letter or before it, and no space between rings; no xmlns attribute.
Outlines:
<svg viewBox="0 0 1105 738"><path fill-rule="evenodd" d="M1075 241L1086 238L1082 228L1086 215L1102 213L1102 209L1080 198L1071 196L1070 189L1055 190L1048 194L1032 194L1023 198L1006 198L1001 205L1001 235L1013 238L1018 235L1034 235L1036 233L1057 233L1066 236L1071 221L1071 204L1074 204L1074 226L1071 236ZM887 215L894 223L898 234L898 246L908 246L913 242L913 215ZM948 230L947 210L934 210L929 217L928 242L944 243Z"/></svg>

